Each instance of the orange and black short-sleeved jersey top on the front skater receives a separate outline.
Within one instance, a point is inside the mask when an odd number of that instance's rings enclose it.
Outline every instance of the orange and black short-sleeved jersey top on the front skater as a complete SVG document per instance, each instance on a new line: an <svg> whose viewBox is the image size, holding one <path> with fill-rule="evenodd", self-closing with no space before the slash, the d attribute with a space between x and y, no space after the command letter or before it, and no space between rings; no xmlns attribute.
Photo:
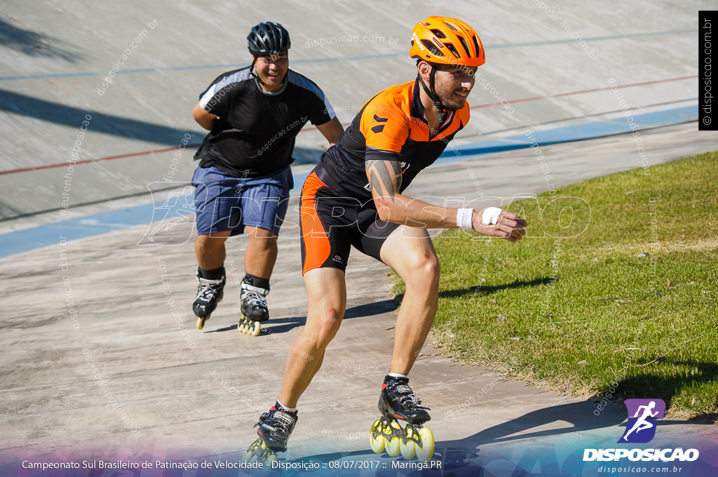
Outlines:
<svg viewBox="0 0 718 477"><path fill-rule="evenodd" d="M449 141L469 121L469 104L449 114L438 131L431 131L419 98L419 78L391 86L367 101L345 131L341 142L330 147L314 169L337 196L370 200L366 176L368 160L401 162L401 188L432 165Z"/></svg>

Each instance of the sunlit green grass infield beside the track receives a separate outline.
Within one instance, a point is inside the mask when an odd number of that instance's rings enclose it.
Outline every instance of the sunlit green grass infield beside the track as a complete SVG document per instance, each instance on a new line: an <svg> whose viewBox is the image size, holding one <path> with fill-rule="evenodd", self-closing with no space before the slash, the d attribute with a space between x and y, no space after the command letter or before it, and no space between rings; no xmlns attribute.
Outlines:
<svg viewBox="0 0 718 477"><path fill-rule="evenodd" d="M556 392L717 420L718 152L650 171L511 204L533 237L517 244L437 238L437 346Z"/></svg>

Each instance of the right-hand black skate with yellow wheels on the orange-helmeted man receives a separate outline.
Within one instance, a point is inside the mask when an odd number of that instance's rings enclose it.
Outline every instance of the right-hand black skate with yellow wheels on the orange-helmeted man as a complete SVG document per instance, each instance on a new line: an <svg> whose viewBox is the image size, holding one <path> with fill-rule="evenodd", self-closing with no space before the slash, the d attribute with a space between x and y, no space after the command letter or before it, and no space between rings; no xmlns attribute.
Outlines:
<svg viewBox="0 0 718 477"><path fill-rule="evenodd" d="M371 426L370 445L375 453L396 457L401 453L406 460L416 458L426 462L434 455L434 435L424 422L431 419L429 408L409 387L409 378L386 376L381 386L379 412L381 418ZM399 425L406 422L406 427Z"/></svg>

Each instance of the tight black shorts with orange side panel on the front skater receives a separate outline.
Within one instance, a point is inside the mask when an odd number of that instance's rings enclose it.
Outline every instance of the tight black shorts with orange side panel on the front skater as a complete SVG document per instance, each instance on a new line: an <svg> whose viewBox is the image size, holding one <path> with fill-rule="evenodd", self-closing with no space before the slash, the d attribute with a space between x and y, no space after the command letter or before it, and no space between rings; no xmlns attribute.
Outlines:
<svg viewBox="0 0 718 477"><path fill-rule="evenodd" d="M373 200L337 196L325 181L312 172L302 187L302 274L325 267L345 270L351 246L381 261L381 246L398 224L381 221Z"/></svg>

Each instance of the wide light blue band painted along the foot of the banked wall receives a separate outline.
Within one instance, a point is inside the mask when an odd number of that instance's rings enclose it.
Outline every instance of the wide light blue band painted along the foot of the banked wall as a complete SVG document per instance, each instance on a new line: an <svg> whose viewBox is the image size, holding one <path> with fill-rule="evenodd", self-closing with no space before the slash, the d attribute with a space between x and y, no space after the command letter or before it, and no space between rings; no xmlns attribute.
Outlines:
<svg viewBox="0 0 718 477"><path fill-rule="evenodd" d="M685 121L698 120L698 105L673 108L653 113L637 114L633 117L633 123L638 124L640 130L646 126L662 126L676 124ZM469 159L495 152L526 149L530 147L533 138L541 146L573 142L582 139L593 139L612 134L630 132L629 118L609 119L606 121L594 121L587 124L567 126L546 131L533 131L532 134L518 134L501 139L464 144L456 148L447 148L439 157L436 164L446 164L462 159ZM460 152L460 154L457 154ZM294 175L294 190L299 189L304 183L307 175ZM0 235L0 257L19 254L24 251L39 249L40 247L56 245L60 240L70 241L78 238L85 238L111 231L120 230L131 226L138 226L150 223L153 220L153 213L164 203L149 203L130 208L111 210L94 214L92 216L73 218L67 221L49 223L43 226L27 228L21 231L8 232ZM157 220L157 218L154 218ZM138 236L139 242L142 237Z"/></svg>

